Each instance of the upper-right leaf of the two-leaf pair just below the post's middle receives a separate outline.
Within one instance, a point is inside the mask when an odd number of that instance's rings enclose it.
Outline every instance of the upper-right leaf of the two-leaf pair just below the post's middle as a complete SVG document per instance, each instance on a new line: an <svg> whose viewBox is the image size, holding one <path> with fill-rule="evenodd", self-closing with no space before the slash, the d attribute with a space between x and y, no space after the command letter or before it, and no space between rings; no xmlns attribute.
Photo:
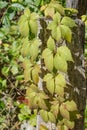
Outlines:
<svg viewBox="0 0 87 130"><path fill-rule="evenodd" d="M55 85L58 85L60 87L65 87L66 86L66 80L63 74L58 74L55 77Z"/></svg>

